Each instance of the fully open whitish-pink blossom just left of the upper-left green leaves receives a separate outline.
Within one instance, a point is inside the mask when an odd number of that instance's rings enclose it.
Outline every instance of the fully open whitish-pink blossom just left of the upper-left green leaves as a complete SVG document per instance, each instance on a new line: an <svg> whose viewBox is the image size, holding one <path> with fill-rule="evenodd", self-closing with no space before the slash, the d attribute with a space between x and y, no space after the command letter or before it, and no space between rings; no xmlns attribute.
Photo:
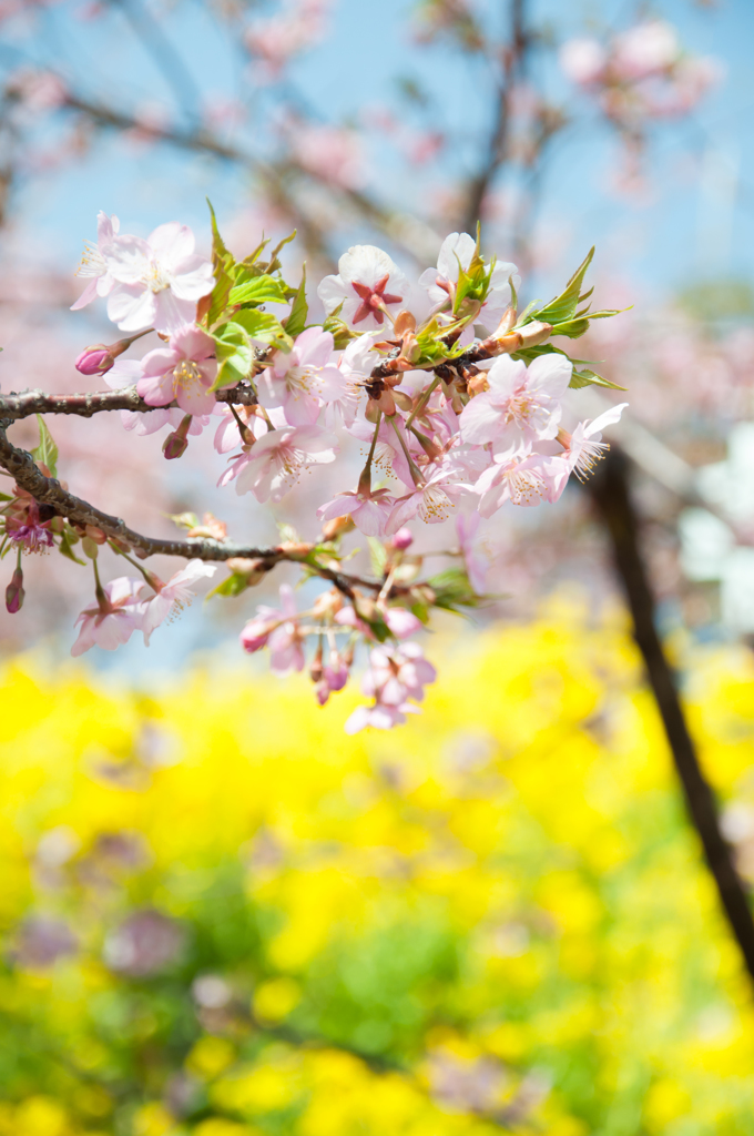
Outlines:
<svg viewBox="0 0 754 1136"><path fill-rule="evenodd" d="M194 321L196 301L215 285L212 267L194 244L187 225L170 222L145 241L120 236L108 247L107 268L116 282L108 316L122 331L173 333Z"/></svg>

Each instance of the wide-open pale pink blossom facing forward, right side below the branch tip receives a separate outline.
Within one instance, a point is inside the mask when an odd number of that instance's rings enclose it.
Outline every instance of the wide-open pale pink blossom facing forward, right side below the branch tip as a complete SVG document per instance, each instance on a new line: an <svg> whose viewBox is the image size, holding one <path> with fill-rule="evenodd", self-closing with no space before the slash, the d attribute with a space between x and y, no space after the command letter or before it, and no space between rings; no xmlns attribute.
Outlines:
<svg viewBox="0 0 754 1136"><path fill-rule="evenodd" d="M489 390L463 408L462 440L518 449L555 437L562 415L559 400L572 371L571 361L555 352L538 356L528 367L510 356L495 359L487 371Z"/></svg>

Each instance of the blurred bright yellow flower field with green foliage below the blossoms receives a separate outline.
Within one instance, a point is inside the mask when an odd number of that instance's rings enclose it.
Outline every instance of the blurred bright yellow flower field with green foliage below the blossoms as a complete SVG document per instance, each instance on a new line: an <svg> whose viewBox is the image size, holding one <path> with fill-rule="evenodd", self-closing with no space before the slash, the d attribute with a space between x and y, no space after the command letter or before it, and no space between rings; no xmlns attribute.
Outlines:
<svg viewBox="0 0 754 1136"><path fill-rule="evenodd" d="M749 989L621 620L432 654L424 715L355 737L355 692L219 660L160 696L6 667L0 1136L754 1133ZM754 663L685 662L740 820Z"/></svg>

